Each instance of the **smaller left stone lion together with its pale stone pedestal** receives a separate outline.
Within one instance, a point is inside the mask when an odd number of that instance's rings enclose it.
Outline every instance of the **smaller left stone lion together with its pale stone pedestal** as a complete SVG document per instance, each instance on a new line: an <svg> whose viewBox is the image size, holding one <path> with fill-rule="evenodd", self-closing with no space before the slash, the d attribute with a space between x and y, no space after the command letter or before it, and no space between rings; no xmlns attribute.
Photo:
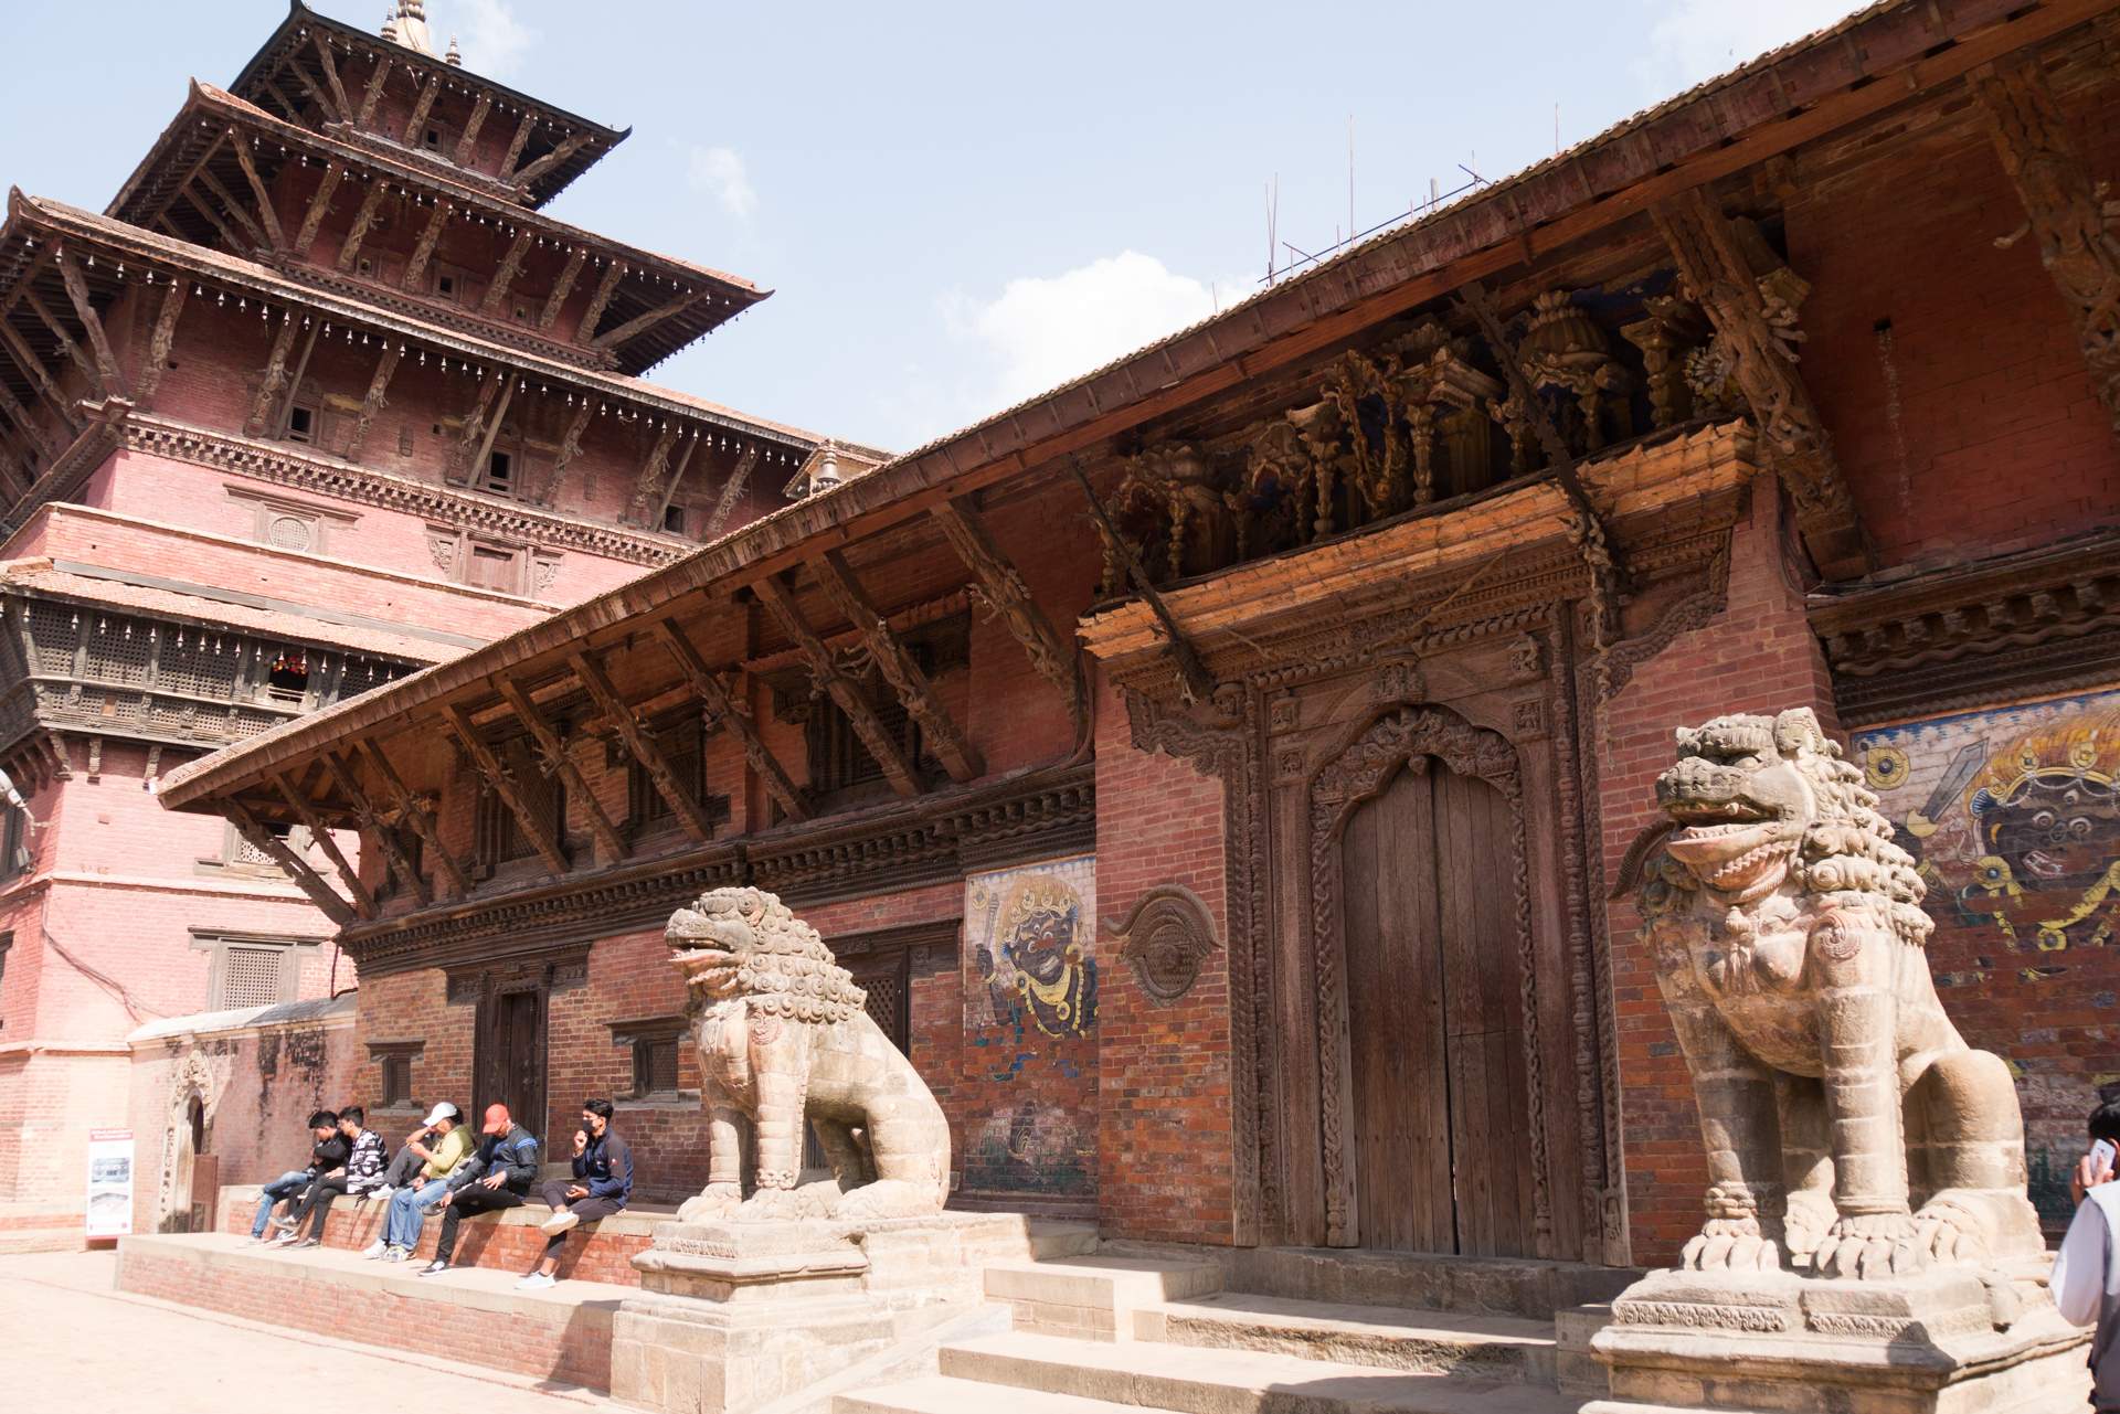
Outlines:
<svg viewBox="0 0 2120 1414"><path fill-rule="evenodd" d="M943 1213L950 1126L863 1011L816 929L770 892L670 916L708 1115L708 1183L634 1257L611 1319L611 1397L742 1414L986 1300L1028 1261L1020 1213ZM831 1179L803 1183L803 1128Z"/></svg>

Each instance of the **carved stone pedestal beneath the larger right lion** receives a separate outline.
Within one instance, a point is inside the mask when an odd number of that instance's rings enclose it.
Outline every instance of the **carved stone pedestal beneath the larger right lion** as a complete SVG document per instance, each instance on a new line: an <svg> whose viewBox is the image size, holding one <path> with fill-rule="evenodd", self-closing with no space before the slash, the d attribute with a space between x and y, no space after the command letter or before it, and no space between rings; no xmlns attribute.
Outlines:
<svg viewBox="0 0 2120 1414"><path fill-rule="evenodd" d="M2090 1331L2044 1283L2044 1259L1908 1280L1654 1272L1590 1342L1611 1397L1582 1414L2082 1410Z"/></svg>

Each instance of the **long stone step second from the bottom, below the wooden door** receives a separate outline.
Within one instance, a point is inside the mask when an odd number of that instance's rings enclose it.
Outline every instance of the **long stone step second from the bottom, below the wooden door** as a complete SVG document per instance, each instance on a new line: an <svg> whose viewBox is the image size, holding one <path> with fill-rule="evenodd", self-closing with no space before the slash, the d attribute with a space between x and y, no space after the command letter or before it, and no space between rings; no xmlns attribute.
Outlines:
<svg viewBox="0 0 2120 1414"><path fill-rule="evenodd" d="M943 1346L941 1374L1007 1386L1011 1412L1022 1391L1177 1414L1575 1414L1582 1403L1579 1395L1520 1380L1340 1365L1266 1350L1098 1344L1022 1331ZM996 1393L986 1391L986 1408ZM882 1414L882 1408L865 1414Z"/></svg>

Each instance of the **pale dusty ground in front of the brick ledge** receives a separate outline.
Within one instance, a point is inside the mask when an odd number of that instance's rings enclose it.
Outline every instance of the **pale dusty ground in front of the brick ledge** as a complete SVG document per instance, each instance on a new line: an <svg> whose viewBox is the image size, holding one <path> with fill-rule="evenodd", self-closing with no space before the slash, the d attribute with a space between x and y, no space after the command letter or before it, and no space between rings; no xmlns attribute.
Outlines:
<svg viewBox="0 0 2120 1414"><path fill-rule="evenodd" d="M114 1291L117 1253L0 1257L8 1414L288 1414L288 1410L611 1410L572 1386L320 1340Z"/></svg>

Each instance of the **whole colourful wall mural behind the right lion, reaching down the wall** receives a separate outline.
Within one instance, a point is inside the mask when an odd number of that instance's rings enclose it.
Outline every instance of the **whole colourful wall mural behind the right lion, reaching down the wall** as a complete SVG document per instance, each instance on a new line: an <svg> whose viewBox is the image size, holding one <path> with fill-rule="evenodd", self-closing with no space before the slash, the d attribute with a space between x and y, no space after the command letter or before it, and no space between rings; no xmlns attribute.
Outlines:
<svg viewBox="0 0 2120 1414"><path fill-rule="evenodd" d="M2084 1117L2120 1094L2120 693L1857 731L1936 918L1929 969L2025 1102L2033 1200L2067 1217Z"/></svg>

